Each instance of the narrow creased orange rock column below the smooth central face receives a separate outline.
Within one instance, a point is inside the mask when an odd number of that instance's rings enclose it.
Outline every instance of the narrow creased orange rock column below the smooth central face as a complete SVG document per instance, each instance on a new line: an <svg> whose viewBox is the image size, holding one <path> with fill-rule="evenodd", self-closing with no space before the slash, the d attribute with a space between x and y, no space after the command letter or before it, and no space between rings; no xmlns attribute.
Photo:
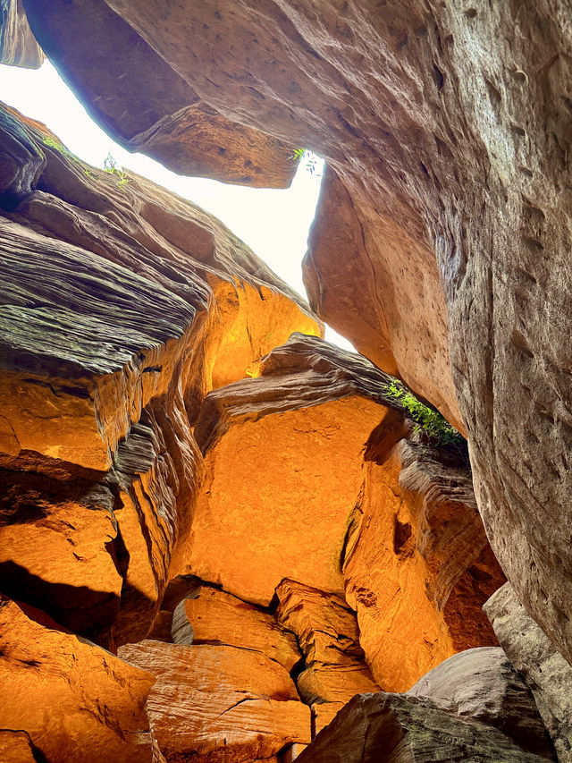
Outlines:
<svg viewBox="0 0 572 763"><path fill-rule="evenodd" d="M276 595L276 618L296 634L306 658L296 685L308 705L334 702L339 709L354 694L378 691L359 646L356 615L344 600L289 580Z"/></svg>

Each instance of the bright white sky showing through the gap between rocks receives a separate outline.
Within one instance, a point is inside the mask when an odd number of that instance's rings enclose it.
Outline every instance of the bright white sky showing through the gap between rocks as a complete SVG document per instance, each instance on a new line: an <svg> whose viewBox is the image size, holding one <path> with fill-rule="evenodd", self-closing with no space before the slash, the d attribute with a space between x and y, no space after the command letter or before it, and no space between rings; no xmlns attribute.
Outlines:
<svg viewBox="0 0 572 763"><path fill-rule="evenodd" d="M261 190L205 178L181 177L143 154L130 154L92 122L80 101L46 61L38 70L0 64L0 100L45 123L73 154L102 166L111 151L117 162L190 199L223 221L297 292L306 295L300 263L320 191L321 163L314 174L302 164L289 189ZM353 350L326 328L326 339Z"/></svg>

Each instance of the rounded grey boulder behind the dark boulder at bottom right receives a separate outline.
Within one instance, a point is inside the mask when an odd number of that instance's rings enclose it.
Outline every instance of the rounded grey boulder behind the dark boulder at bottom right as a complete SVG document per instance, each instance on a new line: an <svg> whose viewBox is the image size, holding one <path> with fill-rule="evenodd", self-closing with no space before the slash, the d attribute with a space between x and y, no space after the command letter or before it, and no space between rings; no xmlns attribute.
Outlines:
<svg viewBox="0 0 572 763"><path fill-rule="evenodd" d="M429 697L461 718L498 728L527 752L554 759L533 696L500 647L468 649L449 657L408 695Z"/></svg>

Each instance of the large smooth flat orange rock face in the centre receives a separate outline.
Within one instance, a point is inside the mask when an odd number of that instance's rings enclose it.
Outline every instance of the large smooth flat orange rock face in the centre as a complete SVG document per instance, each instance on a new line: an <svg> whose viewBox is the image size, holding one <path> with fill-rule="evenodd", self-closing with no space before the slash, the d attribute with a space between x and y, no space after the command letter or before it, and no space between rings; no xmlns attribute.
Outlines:
<svg viewBox="0 0 572 763"><path fill-rule="evenodd" d="M263 606L282 578L342 593L360 452L382 415L380 405L354 396L259 419L254 410L233 416L206 452L192 572Z"/></svg>

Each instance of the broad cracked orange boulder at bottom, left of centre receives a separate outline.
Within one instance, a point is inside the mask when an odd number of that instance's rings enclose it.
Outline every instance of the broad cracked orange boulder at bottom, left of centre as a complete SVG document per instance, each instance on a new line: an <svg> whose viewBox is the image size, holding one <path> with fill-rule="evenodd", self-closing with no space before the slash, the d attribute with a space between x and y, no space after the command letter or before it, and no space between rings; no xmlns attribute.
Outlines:
<svg viewBox="0 0 572 763"><path fill-rule="evenodd" d="M147 715L167 763L249 763L310 742L310 708L287 671L258 651L147 640L119 654L156 675Z"/></svg>

